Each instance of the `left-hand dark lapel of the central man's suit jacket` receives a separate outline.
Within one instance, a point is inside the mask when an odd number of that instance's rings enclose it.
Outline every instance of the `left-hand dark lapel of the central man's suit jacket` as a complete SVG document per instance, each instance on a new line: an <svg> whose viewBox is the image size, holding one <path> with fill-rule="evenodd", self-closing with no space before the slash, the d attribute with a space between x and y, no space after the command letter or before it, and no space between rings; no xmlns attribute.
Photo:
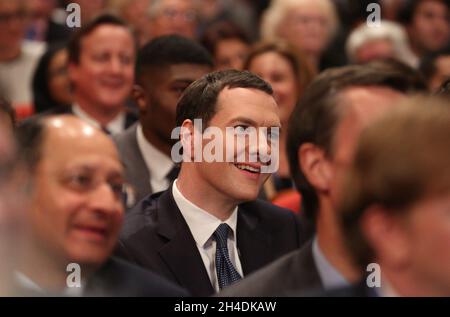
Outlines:
<svg viewBox="0 0 450 317"><path fill-rule="evenodd" d="M214 289L195 240L172 196L172 185L160 197L158 234L168 241L159 255L178 282L194 296L211 295Z"/></svg>

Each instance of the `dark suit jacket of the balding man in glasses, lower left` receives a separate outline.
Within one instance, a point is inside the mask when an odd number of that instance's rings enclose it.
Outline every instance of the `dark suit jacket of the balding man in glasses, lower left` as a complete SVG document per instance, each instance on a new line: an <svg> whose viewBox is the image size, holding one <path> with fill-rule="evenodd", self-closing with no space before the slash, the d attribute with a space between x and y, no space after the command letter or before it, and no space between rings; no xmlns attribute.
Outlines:
<svg viewBox="0 0 450 317"><path fill-rule="evenodd" d="M131 263L111 258L89 279L84 296L179 297L188 293Z"/></svg>

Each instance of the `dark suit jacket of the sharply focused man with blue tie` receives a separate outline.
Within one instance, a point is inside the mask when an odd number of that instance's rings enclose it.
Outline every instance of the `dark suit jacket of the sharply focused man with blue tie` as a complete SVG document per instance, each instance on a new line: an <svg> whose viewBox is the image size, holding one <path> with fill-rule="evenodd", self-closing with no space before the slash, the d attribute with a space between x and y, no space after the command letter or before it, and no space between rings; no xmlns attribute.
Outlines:
<svg viewBox="0 0 450 317"><path fill-rule="evenodd" d="M294 214L263 201L239 205L237 247L244 275L300 247ZM195 240L172 195L172 187L139 202L125 216L117 254L186 288L194 296L214 293Z"/></svg>

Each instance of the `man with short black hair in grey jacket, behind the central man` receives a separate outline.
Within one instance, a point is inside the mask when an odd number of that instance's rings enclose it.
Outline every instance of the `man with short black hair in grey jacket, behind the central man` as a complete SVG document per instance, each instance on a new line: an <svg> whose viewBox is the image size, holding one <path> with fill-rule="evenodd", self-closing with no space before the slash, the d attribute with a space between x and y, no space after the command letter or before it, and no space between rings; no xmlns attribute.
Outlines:
<svg viewBox="0 0 450 317"><path fill-rule="evenodd" d="M136 202L166 190L177 175L171 159L175 110L183 91L212 71L208 52L193 40L169 35L154 39L138 54L133 97L139 107L139 123L117 135L127 181Z"/></svg>

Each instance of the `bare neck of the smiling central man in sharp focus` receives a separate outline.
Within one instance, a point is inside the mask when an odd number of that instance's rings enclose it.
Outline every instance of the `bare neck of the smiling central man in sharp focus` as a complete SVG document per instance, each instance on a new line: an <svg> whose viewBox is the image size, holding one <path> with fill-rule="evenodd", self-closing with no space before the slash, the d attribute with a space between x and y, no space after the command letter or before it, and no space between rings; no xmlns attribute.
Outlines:
<svg viewBox="0 0 450 317"><path fill-rule="evenodd" d="M195 163L183 163L177 180L177 188L181 194L194 205L222 221L230 218L237 203L210 185L197 181L195 168L187 166L188 164Z"/></svg>

